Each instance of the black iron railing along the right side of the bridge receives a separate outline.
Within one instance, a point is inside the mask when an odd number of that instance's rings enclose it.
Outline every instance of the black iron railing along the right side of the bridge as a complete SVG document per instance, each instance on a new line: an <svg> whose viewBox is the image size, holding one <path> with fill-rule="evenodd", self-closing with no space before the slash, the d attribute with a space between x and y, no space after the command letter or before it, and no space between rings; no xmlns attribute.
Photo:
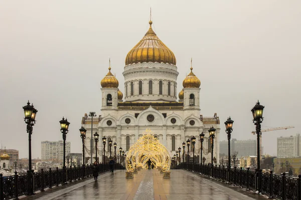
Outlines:
<svg viewBox="0 0 301 200"><path fill-rule="evenodd" d="M272 171L262 173L262 170L251 171L249 168L242 167L228 168L226 166L217 166L210 164L200 164L192 162L183 162L177 165L178 169L188 169L193 172L209 176L233 185L261 191L270 198L301 200L301 174L298 177L289 177L285 173L281 175L273 174ZM258 178L261 178L261 186L257 184Z"/></svg>

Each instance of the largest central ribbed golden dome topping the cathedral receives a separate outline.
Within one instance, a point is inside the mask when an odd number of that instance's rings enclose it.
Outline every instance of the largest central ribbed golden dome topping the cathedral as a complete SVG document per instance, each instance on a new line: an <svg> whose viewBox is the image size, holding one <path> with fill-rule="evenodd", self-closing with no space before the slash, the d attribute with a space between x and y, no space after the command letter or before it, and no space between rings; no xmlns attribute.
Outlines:
<svg viewBox="0 0 301 200"><path fill-rule="evenodd" d="M164 62L176 65L176 56L157 36L149 21L144 37L127 53L125 65L142 62Z"/></svg>

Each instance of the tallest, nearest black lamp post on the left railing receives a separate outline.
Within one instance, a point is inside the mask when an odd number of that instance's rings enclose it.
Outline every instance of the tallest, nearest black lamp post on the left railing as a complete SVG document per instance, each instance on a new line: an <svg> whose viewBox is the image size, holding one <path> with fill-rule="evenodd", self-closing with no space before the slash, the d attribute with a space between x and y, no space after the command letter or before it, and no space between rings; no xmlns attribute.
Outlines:
<svg viewBox="0 0 301 200"><path fill-rule="evenodd" d="M29 151L29 155L28 155L28 166L29 166L29 171L28 171L28 182L30 184L28 184L28 188L27 188L27 193L29 195L34 194L33 191L33 181L32 181L32 158L31 158L31 135L33 133L33 126L36 123L36 115L38 110L34 107L34 105L30 105L30 102L27 102L27 105L23 106L24 109L24 121L27 124L26 126L26 131L28 133L28 151Z"/></svg>

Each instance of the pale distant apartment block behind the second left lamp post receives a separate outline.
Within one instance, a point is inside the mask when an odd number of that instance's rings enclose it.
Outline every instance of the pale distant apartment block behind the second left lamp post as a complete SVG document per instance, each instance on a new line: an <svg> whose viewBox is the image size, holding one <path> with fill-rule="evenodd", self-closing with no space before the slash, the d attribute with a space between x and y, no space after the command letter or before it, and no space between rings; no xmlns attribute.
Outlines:
<svg viewBox="0 0 301 200"><path fill-rule="evenodd" d="M63 140L59 141L41 141L41 159L49 160L63 160L64 158L64 148ZM70 153L71 142L66 141L66 155Z"/></svg>

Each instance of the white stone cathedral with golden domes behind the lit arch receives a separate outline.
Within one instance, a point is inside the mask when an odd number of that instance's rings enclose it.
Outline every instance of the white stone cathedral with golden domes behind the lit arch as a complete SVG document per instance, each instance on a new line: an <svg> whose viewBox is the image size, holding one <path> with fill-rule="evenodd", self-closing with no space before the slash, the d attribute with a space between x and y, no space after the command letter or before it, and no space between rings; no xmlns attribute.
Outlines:
<svg viewBox="0 0 301 200"><path fill-rule="evenodd" d="M93 134L99 133L97 151L99 162L103 160L103 144L101 138L107 137L105 146L106 156L109 157L110 147L108 141L117 143L116 154L119 158L119 147L125 151L133 145L146 129L152 130L155 137L165 145L170 155L176 154L181 147L181 161L183 158L183 141L196 137L195 156L200 162L200 133L204 133L203 161L211 162L211 147L209 128L216 128L214 139L214 164L219 164L219 124L217 114L205 117L200 114L200 79L190 73L183 80L180 87L179 100L177 100L177 77L179 72L176 66L176 56L167 47L152 29L149 29L143 38L127 53L125 58L124 92L118 89L119 82L111 73L101 80L102 106L101 115L82 118L82 126L87 129L85 139L85 162L90 162L90 135L91 124ZM92 138L93 139L93 138ZM94 141L94 139L93 139ZM95 143L93 142L92 145ZM193 145L190 145L189 154L193 157ZM93 146L93 161L95 147ZM187 145L185 153L187 154ZM112 146L112 157L114 148ZM187 156L185 156L187 158ZM198 158L198 159L197 159Z"/></svg>

